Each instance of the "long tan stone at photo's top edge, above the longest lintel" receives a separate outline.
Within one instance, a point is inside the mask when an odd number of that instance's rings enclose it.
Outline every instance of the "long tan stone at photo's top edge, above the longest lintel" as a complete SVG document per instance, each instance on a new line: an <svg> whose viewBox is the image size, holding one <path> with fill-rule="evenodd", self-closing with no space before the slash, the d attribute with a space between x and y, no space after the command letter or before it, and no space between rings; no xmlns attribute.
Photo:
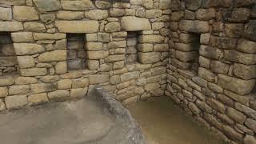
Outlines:
<svg viewBox="0 0 256 144"><path fill-rule="evenodd" d="M90 0L82 1L61 1L63 10L90 10L94 8L93 2Z"/></svg>

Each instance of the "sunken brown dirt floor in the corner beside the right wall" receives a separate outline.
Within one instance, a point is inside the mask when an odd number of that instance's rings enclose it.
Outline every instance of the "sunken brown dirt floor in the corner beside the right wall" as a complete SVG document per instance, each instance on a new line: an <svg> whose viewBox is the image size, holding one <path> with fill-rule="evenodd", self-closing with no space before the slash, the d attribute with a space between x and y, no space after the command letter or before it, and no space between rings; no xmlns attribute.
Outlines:
<svg viewBox="0 0 256 144"><path fill-rule="evenodd" d="M127 106L149 144L223 144L170 101L153 98Z"/></svg>

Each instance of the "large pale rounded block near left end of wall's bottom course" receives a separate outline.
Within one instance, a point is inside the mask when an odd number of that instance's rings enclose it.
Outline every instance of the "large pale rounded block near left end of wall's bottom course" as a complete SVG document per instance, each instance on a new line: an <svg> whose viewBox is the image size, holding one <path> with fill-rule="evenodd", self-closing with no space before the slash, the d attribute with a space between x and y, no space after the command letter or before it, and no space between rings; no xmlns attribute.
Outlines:
<svg viewBox="0 0 256 144"><path fill-rule="evenodd" d="M5 99L7 109L14 110L18 109L27 104L26 95L14 95L6 97Z"/></svg>

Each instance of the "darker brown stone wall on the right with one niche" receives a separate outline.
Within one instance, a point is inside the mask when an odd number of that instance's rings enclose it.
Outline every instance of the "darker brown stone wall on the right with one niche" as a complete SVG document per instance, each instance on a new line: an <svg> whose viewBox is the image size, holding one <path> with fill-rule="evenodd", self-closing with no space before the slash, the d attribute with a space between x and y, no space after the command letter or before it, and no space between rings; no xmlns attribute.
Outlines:
<svg viewBox="0 0 256 144"><path fill-rule="evenodd" d="M255 0L172 0L171 4L165 94L231 143L256 143L255 4Z"/></svg>

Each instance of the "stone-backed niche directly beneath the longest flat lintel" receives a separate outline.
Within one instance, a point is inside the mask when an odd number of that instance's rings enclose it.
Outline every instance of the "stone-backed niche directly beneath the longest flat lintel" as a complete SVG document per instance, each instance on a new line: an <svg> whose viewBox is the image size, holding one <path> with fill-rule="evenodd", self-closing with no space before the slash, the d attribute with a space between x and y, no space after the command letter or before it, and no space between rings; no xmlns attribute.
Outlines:
<svg viewBox="0 0 256 144"><path fill-rule="evenodd" d="M67 34L68 70L86 68L85 34Z"/></svg>

